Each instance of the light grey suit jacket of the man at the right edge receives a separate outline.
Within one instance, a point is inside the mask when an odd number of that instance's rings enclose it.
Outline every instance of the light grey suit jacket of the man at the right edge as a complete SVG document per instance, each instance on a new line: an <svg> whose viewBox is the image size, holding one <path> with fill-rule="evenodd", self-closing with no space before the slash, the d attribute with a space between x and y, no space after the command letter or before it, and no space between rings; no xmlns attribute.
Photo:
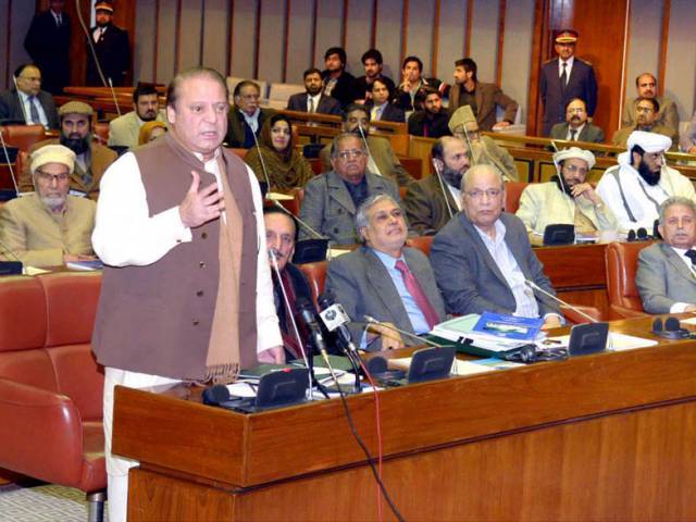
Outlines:
<svg viewBox="0 0 696 522"><path fill-rule="evenodd" d="M643 308L648 313L670 313L676 302L696 304L696 278L672 247L657 243L638 252L635 274Z"/></svg>

